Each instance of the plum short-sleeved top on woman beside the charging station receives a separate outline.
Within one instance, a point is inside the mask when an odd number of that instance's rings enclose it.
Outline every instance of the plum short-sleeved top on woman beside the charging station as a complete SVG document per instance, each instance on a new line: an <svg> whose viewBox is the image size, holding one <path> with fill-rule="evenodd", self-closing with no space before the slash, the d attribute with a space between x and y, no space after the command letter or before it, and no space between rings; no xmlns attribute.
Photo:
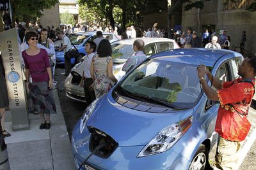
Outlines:
<svg viewBox="0 0 256 170"><path fill-rule="evenodd" d="M25 68L29 69L33 82L49 81L49 76L46 68L51 67L49 57L46 50L40 49L40 52L36 55L28 55L26 50L22 52ZM42 73L35 73L39 71Z"/></svg>

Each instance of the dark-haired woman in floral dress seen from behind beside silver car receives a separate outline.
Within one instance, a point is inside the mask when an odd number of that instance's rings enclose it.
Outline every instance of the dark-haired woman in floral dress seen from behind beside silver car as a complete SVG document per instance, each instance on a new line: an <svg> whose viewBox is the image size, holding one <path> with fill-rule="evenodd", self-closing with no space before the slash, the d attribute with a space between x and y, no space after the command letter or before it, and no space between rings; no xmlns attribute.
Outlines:
<svg viewBox="0 0 256 170"><path fill-rule="evenodd" d="M112 48L107 39L102 39L97 48L97 55L92 59L91 76L94 80L95 97L107 94L117 82L113 75Z"/></svg>

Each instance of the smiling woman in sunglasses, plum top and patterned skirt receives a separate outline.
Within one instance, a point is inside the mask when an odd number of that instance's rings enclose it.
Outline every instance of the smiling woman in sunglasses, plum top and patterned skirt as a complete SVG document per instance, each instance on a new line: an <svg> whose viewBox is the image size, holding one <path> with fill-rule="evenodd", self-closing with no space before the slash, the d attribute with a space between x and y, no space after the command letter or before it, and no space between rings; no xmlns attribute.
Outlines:
<svg viewBox="0 0 256 170"><path fill-rule="evenodd" d="M36 47L38 36L35 32L25 35L28 50L22 52L26 68L26 87L36 110L40 113L40 129L50 129L50 113L56 113L52 97L52 72L46 50Z"/></svg>

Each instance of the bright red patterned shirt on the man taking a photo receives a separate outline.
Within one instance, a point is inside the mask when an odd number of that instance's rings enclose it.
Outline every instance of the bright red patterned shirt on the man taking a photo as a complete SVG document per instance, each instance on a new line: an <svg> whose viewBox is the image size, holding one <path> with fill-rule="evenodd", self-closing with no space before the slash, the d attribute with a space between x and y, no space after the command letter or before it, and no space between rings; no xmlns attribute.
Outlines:
<svg viewBox="0 0 256 170"><path fill-rule="evenodd" d="M220 108L215 131L229 141L243 141L250 129L250 122L246 117L252 103L254 87L251 83L239 82L241 80L242 78L237 78L223 82L222 89L217 90ZM252 80L253 84L254 81Z"/></svg>

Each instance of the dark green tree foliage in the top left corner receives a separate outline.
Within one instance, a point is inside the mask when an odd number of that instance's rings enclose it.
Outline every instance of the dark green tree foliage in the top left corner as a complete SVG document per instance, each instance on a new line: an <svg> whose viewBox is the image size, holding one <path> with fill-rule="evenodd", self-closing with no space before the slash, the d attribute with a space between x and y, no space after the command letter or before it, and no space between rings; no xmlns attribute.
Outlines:
<svg viewBox="0 0 256 170"><path fill-rule="evenodd" d="M42 11L51 9L58 0L10 0L13 20L19 18L24 22L41 17Z"/></svg>

